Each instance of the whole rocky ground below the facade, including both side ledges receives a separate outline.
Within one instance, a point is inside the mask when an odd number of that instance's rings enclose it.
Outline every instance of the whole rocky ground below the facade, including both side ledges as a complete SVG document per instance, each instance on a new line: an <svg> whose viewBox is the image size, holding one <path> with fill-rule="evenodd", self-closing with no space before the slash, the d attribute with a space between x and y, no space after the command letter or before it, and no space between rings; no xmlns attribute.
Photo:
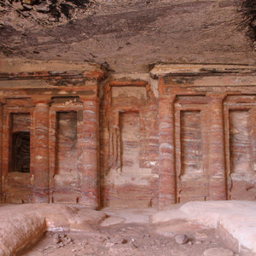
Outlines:
<svg viewBox="0 0 256 256"><path fill-rule="evenodd" d="M189 202L164 211L58 204L0 208L1 256L256 255L255 201ZM178 242L180 235L188 241Z"/></svg>

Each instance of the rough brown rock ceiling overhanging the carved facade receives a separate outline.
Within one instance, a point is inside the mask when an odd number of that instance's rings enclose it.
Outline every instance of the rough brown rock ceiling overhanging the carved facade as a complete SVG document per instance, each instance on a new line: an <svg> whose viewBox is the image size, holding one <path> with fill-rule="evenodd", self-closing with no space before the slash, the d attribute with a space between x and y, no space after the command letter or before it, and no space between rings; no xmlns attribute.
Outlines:
<svg viewBox="0 0 256 256"><path fill-rule="evenodd" d="M2 56L108 62L255 64L255 0L1 0Z"/></svg>

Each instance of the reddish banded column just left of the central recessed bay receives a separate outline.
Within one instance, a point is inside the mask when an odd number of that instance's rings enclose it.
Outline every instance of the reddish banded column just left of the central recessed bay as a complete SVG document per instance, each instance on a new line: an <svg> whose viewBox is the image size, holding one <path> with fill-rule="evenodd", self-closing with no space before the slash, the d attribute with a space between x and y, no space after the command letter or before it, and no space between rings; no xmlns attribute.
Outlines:
<svg viewBox="0 0 256 256"><path fill-rule="evenodd" d="M99 207L99 100L84 102L82 203Z"/></svg>

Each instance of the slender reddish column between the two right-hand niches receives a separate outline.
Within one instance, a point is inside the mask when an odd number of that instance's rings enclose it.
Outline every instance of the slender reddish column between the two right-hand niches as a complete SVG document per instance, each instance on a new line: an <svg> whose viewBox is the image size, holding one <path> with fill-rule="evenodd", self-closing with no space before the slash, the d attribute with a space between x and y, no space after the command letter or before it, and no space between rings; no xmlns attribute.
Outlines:
<svg viewBox="0 0 256 256"><path fill-rule="evenodd" d="M210 96L209 102L209 176L210 200L226 200L224 159L224 96Z"/></svg>

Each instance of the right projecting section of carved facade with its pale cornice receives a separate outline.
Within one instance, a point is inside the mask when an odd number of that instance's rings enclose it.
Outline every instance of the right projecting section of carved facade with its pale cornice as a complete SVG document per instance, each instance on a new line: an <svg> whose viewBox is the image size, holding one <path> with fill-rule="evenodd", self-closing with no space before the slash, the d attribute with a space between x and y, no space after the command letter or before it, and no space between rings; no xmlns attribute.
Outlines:
<svg viewBox="0 0 256 256"><path fill-rule="evenodd" d="M160 91L160 206L255 200L255 73L155 67ZM170 184L172 185L170 187Z"/></svg>

